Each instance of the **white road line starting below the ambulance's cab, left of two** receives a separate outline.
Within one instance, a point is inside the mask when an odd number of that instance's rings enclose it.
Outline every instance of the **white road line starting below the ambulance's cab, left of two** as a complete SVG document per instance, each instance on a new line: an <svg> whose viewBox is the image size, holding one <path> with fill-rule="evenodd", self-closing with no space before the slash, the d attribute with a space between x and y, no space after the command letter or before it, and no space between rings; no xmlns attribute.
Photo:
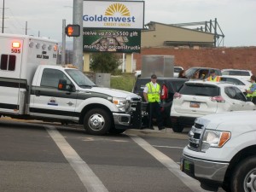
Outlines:
<svg viewBox="0 0 256 192"><path fill-rule="evenodd" d="M96 177L96 174L92 172L86 162L67 143L61 133L54 126L45 125L44 127L49 132L49 136L52 137L56 145L61 149L62 154L73 167L73 170L78 174L87 192L108 192L102 181Z"/></svg>

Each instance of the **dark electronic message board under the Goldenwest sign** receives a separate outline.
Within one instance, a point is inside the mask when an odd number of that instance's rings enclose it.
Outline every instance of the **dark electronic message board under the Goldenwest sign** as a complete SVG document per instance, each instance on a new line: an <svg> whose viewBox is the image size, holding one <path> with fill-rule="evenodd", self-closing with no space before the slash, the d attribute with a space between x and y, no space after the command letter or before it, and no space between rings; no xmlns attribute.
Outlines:
<svg viewBox="0 0 256 192"><path fill-rule="evenodd" d="M140 53L141 31L131 29L83 29L83 49L87 52Z"/></svg>

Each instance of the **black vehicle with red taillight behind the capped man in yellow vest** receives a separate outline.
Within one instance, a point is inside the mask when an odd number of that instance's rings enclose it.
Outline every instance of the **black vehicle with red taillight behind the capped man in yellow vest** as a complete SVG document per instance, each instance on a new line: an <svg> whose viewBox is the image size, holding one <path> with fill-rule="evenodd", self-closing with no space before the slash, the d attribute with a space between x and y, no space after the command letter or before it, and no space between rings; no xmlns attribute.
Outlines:
<svg viewBox="0 0 256 192"><path fill-rule="evenodd" d="M143 102L145 102L144 97L143 97L143 90L150 82L150 78L140 78L137 79L134 88L132 90L133 93L136 93L139 96L142 96ZM189 79L180 79L180 78L163 78L159 77L157 79L157 83L160 84L161 86L161 112L165 121L165 126L166 127L172 127L172 122L170 119L170 112L172 108L172 100L173 100L173 95L179 88L183 85L184 82L188 81ZM144 103L145 105L145 103ZM143 110L146 110L145 106ZM146 113L145 111L143 113Z"/></svg>

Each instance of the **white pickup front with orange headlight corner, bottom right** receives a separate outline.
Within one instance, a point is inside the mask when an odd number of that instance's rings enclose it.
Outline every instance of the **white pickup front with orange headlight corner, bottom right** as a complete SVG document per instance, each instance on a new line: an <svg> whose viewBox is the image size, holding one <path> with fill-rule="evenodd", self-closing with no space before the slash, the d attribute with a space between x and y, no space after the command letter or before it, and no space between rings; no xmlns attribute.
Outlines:
<svg viewBox="0 0 256 192"><path fill-rule="evenodd" d="M256 191L256 111L216 113L195 119L181 170L203 189Z"/></svg>

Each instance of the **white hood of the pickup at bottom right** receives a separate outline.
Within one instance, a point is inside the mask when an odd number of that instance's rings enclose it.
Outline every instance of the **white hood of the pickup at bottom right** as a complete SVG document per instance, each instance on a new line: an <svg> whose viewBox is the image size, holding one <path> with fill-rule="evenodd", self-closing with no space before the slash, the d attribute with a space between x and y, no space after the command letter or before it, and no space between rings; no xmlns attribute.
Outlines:
<svg viewBox="0 0 256 192"><path fill-rule="evenodd" d="M196 119L196 123L207 126L207 129L230 129L231 127L244 128L255 126L256 111L236 111L214 113Z"/></svg>

